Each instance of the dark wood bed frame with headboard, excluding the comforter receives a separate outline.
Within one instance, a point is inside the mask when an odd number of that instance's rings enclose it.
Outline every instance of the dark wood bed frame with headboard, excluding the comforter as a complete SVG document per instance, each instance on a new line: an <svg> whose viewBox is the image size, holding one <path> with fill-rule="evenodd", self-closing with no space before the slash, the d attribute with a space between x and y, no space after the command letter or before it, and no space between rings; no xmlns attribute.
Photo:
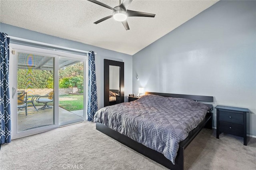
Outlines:
<svg viewBox="0 0 256 170"><path fill-rule="evenodd" d="M213 102L212 96L198 96L198 95L179 95L179 94L169 94L169 93L153 93L153 92L146 92L145 94L153 94L153 95L160 95L164 97L179 97L179 98L186 98L192 99L195 101L204 101L204 102ZM209 105L209 104L207 104ZM212 107L212 105L209 105ZM192 131L189 132L188 137L179 143L179 150L175 159L175 165L172 164L170 160L168 160L162 153L157 152L151 148L140 144L131 138L120 134L119 132L112 130L111 128L106 127L101 123L96 123L96 129L100 132L110 136L111 138L117 140L118 142L132 148L133 150L147 156L148 158L158 162L159 164L165 166L171 170L183 170L184 169L184 150L190 144L190 142L196 137L196 135L202 130L202 128L210 128L212 129L212 113L207 113L204 120Z"/></svg>

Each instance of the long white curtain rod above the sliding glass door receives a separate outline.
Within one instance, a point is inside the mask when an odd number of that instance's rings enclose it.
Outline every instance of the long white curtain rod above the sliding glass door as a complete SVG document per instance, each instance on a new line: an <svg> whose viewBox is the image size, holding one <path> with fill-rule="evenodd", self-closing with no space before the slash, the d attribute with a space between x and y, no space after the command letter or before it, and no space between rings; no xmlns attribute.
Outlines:
<svg viewBox="0 0 256 170"><path fill-rule="evenodd" d="M77 51L77 52L81 52L81 53L91 53L90 51L84 51L84 50L80 50L80 49L63 47L63 46L54 45L54 44L50 44L50 43L37 42L37 41L33 41L33 40L27 40L27 39L24 39L24 38L18 38L18 37L12 37L12 36L7 36L7 37L12 39L12 40L18 40L18 41L22 41L22 42L28 42L28 43L34 43L34 44L39 44L39 45L45 45L45 46L49 46L49 47L67 49L67 50L70 50L70 51ZM94 54L97 54L97 53L94 53Z"/></svg>

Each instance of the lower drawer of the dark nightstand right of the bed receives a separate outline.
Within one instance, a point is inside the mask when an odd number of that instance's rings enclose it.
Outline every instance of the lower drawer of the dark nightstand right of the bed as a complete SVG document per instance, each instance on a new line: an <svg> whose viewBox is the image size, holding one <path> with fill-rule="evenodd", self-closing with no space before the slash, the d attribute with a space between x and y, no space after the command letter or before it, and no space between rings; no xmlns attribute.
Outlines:
<svg viewBox="0 0 256 170"><path fill-rule="evenodd" d="M243 125L220 121L220 125L219 125L220 132L243 137L243 134L244 134L243 129L244 129Z"/></svg>

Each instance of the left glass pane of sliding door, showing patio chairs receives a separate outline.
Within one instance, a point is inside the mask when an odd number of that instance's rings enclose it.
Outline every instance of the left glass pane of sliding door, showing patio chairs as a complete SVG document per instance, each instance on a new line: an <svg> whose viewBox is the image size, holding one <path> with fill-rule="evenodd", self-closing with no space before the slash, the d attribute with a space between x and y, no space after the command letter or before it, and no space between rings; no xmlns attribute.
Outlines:
<svg viewBox="0 0 256 170"><path fill-rule="evenodd" d="M54 57L17 51L18 132L54 125Z"/></svg>

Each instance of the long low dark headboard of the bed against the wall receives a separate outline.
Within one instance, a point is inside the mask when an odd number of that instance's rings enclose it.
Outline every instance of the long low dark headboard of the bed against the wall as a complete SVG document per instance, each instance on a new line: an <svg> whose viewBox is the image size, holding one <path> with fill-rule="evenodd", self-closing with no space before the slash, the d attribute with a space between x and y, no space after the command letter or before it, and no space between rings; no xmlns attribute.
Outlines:
<svg viewBox="0 0 256 170"><path fill-rule="evenodd" d="M145 95L158 95L158 96L164 96L164 97L178 97L178 98L192 99L194 101L213 102L213 97L212 96L180 95L180 94L171 94L171 93L155 93L155 92L148 92L148 91L145 92ZM206 104L206 105L212 107L211 104Z"/></svg>

